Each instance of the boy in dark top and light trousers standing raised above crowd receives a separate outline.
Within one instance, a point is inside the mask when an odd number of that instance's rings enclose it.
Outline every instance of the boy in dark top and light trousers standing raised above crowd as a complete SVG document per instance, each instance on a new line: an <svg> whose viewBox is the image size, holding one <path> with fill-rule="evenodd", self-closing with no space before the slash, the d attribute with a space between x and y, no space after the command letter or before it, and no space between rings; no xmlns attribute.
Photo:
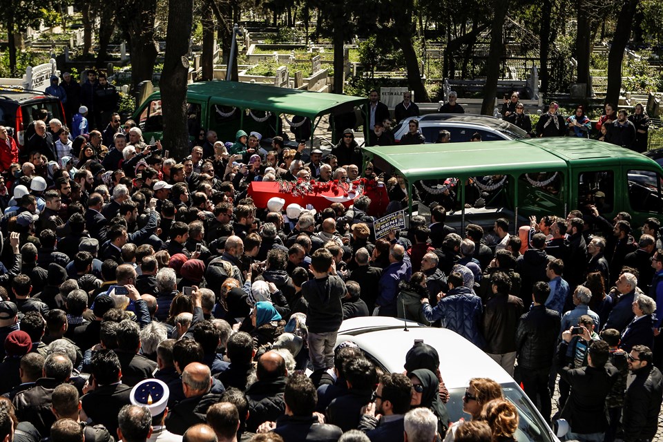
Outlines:
<svg viewBox="0 0 663 442"><path fill-rule="evenodd" d="M311 256L314 279L302 285L309 303L306 325L309 329L309 356L314 371L334 367L334 345L343 323L345 282L336 276L334 257L327 249L318 249ZM331 274L330 274L331 273Z"/></svg>

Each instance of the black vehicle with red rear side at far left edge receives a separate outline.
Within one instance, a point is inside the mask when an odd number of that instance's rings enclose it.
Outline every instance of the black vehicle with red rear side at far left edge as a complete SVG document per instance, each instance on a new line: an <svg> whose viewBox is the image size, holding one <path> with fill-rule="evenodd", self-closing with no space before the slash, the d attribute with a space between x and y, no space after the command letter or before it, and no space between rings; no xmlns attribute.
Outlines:
<svg viewBox="0 0 663 442"><path fill-rule="evenodd" d="M39 90L0 88L0 126L12 128L12 136L19 150L28 142L23 139L23 133L40 109L48 111L47 122L52 118L59 119L63 124L66 122L64 107L59 98Z"/></svg>

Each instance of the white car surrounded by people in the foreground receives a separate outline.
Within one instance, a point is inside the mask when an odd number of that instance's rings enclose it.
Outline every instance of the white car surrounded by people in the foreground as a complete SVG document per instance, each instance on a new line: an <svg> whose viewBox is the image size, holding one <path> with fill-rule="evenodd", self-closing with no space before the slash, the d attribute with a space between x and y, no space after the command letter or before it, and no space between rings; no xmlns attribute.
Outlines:
<svg viewBox="0 0 663 442"><path fill-rule="evenodd" d="M407 329L405 327L407 325ZM440 356L440 373L449 390L447 405L450 419L458 421L463 413L463 395L471 378L491 378L502 386L503 394L518 410L519 428L515 439L519 442L558 442L539 411L517 383L481 349L448 329L426 327L413 321L370 316L343 321L336 345L352 341L385 372L404 371L405 355L414 340L421 339L434 347Z"/></svg>

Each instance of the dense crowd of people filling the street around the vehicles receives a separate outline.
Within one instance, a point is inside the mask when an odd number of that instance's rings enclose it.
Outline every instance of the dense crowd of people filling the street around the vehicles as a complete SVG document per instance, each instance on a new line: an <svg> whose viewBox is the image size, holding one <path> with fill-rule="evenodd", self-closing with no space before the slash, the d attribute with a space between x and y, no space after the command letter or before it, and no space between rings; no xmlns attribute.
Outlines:
<svg viewBox="0 0 663 442"><path fill-rule="evenodd" d="M22 164L0 128L0 437L515 440L517 410L489 378L470 381L465 422L452 422L441 349L416 344L403 373L384 373L356 344L336 345L343 320L376 315L464 336L570 439L654 438L657 219L637 241L628 213L606 220L595 207L532 218L519 236L504 218L490 232L468 224L463 238L434 203L430 222L376 238L366 195L320 211L247 195L253 181L366 177L397 206L414 198L402 177L363 164L352 129L307 163L305 144L274 137L268 150L244 131L225 143L203 131L173 159L116 113L103 131L78 124L73 142L47 119Z"/></svg>

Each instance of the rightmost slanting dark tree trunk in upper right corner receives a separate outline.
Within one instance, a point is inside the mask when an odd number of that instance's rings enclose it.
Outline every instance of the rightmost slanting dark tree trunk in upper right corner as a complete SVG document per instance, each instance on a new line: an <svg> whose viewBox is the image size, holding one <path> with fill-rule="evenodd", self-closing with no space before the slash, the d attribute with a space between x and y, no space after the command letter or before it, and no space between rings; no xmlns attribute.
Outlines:
<svg viewBox="0 0 663 442"><path fill-rule="evenodd" d="M617 104L622 89L622 60L624 49L631 38L633 17L640 0L627 0L622 4L622 10L617 18L617 27L613 36L613 44L608 53L608 88L606 90L606 103Z"/></svg>

